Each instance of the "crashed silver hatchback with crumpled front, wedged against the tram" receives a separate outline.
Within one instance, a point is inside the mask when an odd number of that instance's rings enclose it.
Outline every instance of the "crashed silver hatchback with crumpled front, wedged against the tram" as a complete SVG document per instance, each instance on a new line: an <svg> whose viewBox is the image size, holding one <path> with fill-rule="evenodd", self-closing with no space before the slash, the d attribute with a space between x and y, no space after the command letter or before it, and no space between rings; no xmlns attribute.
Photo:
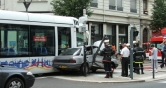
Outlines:
<svg viewBox="0 0 166 88"><path fill-rule="evenodd" d="M89 70L95 72L97 69L103 69L104 65L102 64L102 56L97 55L96 60L93 62L94 49L98 48L97 46L86 46L86 73ZM57 68L60 71L64 70L78 70L81 73L84 73L84 48L83 46L77 48L68 48L59 56L56 56L53 60L53 67ZM117 60L112 59L113 68L118 66ZM99 65L97 65L99 64Z"/></svg>

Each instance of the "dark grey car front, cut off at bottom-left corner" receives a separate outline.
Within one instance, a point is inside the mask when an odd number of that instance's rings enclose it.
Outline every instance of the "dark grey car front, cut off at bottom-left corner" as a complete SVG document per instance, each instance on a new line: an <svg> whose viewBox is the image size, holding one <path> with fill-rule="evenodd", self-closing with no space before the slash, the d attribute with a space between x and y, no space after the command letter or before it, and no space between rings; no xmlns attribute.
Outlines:
<svg viewBox="0 0 166 88"><path fill-rule="evenodd" d="M0 88L30 88L34 82L35 77L31 72L0 65Z"/></svg>

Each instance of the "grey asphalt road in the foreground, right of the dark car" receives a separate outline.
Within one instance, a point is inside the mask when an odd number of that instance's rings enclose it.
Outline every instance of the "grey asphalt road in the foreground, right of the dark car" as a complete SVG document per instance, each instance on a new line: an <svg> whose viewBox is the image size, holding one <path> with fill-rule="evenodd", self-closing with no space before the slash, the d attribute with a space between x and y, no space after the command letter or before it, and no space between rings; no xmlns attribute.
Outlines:
<svg viewBox="0 0 166 88"><path fill-rule="evenodd" d="M43 77L36 79L32 88L165 88L165 83L166 80L144 83L90 83Z"/></svg>

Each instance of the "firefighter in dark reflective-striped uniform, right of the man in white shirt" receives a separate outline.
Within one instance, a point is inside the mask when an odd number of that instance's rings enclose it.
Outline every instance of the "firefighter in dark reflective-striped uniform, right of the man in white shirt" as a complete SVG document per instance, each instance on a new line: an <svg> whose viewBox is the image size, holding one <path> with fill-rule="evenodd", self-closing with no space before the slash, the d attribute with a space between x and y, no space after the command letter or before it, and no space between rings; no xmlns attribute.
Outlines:
<svg viewBox="0 0 166 88"><path fill-rule="evenodd" d="M133 51L134 51L135 72L137 74L140 74L139 70L141 68L141 74L144 74L143 62L144 62L144 59L146 58L146 53L145 53L144 49L139 46L138 43L136 43L136 47L134 48Z"/></svg>

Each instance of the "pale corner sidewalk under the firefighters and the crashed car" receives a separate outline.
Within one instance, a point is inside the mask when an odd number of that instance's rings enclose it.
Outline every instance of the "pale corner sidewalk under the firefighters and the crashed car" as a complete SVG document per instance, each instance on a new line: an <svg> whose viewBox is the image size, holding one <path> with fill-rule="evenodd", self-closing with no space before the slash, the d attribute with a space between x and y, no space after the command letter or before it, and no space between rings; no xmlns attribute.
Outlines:
<svg viewBox="0 0 166 88"><path fill-rule="evenodd" d="M104 70L97 70L96 73L87 74L87 76L54 76L53 78L71 80L71 81L81 81L81 82L98 82L98 83L128 83L128 82L147 82L166 78L166 67L159 69L158 73L155 73L155 79L153 79L153 74L151 70L145 70L145 74L135 74L133 73L133 79L130 77L121 77L121 69L115 69L113 78L104 78Z"/></svg>

